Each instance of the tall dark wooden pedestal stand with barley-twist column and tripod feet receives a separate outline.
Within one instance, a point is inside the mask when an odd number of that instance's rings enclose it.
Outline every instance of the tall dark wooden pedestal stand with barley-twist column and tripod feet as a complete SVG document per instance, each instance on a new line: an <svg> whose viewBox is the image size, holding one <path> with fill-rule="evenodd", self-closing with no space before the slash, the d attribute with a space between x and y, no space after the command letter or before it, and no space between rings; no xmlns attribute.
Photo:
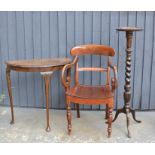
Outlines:
<svg viewBox="0 0 155 155"><path fill-rule="evenodd" d="M132 54L132 37L133 37L133 32L136 31L141 31L141 28L136 28L136 27L121 27L118 28L117 31L123 31L126 33L126 67L125 67L125 85L124 85L124 107L122 109L118 109L115 114L115 118L113 122L116 120L118 115L120 113L125 113L126 114L126 119L127 119L127 130L128 130L128 137L131 137L130 130L129 130L129 113L131 112L133 119L137 122L140 123L141 121L136 120L135 118L135 110L130 108L130 100L131 100L131 54Z"/></svg>

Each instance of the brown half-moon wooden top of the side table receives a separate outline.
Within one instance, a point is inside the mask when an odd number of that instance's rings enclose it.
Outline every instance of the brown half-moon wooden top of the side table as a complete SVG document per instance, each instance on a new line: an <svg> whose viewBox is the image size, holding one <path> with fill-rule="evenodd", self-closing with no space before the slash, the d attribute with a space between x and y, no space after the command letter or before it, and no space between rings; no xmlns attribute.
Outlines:
<svg viewBox="0 0 155 155"><path fill-rule="evenodd" d="M61 69L64 65L70 63L69 58L49 58L32 60L9 60L6 61L7 67L12 70L25 72L46 72Z"/></svg>

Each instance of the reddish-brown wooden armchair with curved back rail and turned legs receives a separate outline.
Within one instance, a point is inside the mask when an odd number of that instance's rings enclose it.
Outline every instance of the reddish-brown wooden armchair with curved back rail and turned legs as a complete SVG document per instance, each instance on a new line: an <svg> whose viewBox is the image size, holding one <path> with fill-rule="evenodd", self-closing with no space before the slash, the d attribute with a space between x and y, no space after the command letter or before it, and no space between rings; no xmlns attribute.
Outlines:
<svg viewBox="0 0 155 155"><path fill-rule="evenodd" d="M71 49L70 54L74 56L73 61L70 64L64 66L61 75L61 81L65 87L66 94L66 109L67 109L67 121L68 121L68 134L71 133L71 103L76 103L77 117L80 118L79 104L105 104L106 115L108 120L108 137L111 136L112 131L112 111L114 105L114 90L117 87L117 69L112 65L110 57L115 55L113 48L104 45L82 45ZM108 67L92 67L92 68L79 68L78 57L81 55L103 55L108 56ZM71 68L75 67L74 72L74 86L71 88L70 72ZM113 70L114 77L111 78L110 86L110 69ZM87 86L81 85L78 82L78 72L81 71L94 71L94 72L106 72L106 84L100 86Z"/></svg>

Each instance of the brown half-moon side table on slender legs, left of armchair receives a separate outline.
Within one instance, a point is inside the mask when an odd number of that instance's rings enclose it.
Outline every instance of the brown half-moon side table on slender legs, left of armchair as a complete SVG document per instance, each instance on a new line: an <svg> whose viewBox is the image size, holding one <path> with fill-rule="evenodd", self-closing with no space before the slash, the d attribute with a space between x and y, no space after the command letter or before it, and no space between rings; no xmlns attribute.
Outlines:
<svg viewBox="0 0 155 155"><path fill-rule="evenodd" d="M46 131L50 131L49 124L49 86L50 86L50 76L53 71L61 70L64 65L68 64L70 59L68 58L53 58L53 59L34 59L34 60L17 60L17 61L7 61L6 62L6 80L8 86L8 93L10 98L11 107L11 124L14 123L14 111L13 111L13 96L11 89L11 70L17 72L40 72L43 75L45 83L45 98L46 98Z"/></svg>

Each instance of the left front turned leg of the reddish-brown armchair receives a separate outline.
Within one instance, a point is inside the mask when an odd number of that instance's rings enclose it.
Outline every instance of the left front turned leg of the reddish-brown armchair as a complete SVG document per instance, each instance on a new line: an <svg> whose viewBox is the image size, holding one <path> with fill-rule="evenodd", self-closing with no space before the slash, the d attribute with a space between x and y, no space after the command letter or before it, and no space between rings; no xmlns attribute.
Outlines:
<svg viewBox="0 0 155 155"><path fill-rule="evenodd" d="M68 121L68 126L67 126L67 129L68 129L68 134L70 135L71 133L71 130L72 130L72 124L71 124L71 119L72 119L72 116L71 116L71 106L70 106L70 101L67 99L67 121Z"/></svg>

